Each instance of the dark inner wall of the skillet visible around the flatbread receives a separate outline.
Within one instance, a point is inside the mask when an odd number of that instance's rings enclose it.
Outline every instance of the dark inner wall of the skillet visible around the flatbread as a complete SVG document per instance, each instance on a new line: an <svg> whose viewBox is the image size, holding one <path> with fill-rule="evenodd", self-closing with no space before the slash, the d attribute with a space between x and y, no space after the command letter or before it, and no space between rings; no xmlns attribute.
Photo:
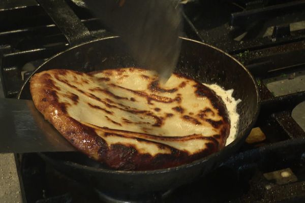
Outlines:
<svg viewBox="0 0 305 203"><path fill-rule="evenodd" d="M233 97L241 99L237 106L237 113L240 116L238 132L236 140L230 145L240 143L258 112L258 93L253 78L245 67L224 52L192 40L181 40L182 48L176 73L201 83L217 84L225 90L233 89ZM36 73L51 69L92 72L121 67L143 67L136 63L121 45L121 41L116 37L85 43L46 61ZM22 87L19 98L31 99L29 81L26 81ZM57 157L55 154L52 156ZM84 165L104 167L95 161L88 161L87 158L73 160L70 155L58 157Z"/></svg>

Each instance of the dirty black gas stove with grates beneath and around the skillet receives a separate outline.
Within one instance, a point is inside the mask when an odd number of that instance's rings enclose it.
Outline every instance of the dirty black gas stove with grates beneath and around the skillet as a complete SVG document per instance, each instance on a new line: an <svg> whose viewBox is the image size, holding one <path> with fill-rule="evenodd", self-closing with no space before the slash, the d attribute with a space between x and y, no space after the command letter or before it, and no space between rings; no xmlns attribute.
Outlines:
<svg viewBox="0 0 305 203"><path fill-rule="evenodd" d="M0 2L0 96L16 98L40 64L80 42L67 23L90 33L87 40L112 36L82 1L60 0L52 8L38 2ZM228 52L255 76L261 111L235 155L208 176L146 202L305 201L305 1L181 6L185 37ZM123 202L60 174L36 153L1 156L1 202Z"/></svg>

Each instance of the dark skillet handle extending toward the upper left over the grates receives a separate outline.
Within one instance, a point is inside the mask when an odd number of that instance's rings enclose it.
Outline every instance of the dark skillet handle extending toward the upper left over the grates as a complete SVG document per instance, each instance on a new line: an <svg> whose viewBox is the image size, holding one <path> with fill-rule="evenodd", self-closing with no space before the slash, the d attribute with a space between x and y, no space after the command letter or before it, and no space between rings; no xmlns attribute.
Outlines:
<svg viewBox="0 0 305 203"><path fill-rule="evenodd" d="M50 16L55 25L63 32L70 46L93 39L90 31L65 0L36 0Z"/></svg>

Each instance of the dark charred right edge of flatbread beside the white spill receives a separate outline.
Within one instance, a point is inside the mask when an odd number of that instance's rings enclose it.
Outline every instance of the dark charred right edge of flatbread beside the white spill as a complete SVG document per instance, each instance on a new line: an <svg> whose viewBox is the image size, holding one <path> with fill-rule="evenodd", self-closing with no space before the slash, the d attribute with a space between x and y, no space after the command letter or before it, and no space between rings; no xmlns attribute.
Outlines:
<svg viewBox="0 0 305 203"><path fill-rule="evenodd" d="M193 85L196 88L195 94L198 97L207 97L210 99L212 106L215 109L218 109L219 115L224 118L226 122L229 122L228 113L223 103L222 99L216 94L215 91L211 90L210 88L206 87L203 84L197 83Z"/></svg>

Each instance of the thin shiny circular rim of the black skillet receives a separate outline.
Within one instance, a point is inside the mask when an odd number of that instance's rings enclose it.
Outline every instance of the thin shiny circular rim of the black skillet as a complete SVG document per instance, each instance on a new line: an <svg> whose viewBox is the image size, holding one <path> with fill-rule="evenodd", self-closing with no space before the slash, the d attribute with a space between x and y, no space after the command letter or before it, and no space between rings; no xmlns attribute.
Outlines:
<svg viewBox="0 0 305 203"><path fill-rule="evenodd" d="M119 38L119 36L111 36L111 37L106 37L106 38L101 38L101 39L96 39L96 40L92 40L92 41L89 41L89 42L84 42L84 43L81 43L79 45L76 45L76 46L73 46L71 48L68 48L62 52L59 52L55 55L53 55L52 57L48 58L46 61L44 61L32 74L31 76L29 76L26 81L24 81L19 93L18 93L18 96L17 98L20 99L20 96L21 96L21 92L23 91L25 85L29 82L29 80L32 78L32 76L34 74L36 74L36 72L38 72L42 66L44 66L45 64L47 64L50 60L53 60L54 58L56 58L58 55L61 55L65 52L68 52L76 47L81 47L83 45L86 45L86 44L90 44L90 43L94 43L94 42L98 42L98 41L102 41L102 40L110 40L110 39L116 39L116 38ZM234 147L235 145L238 144L237 141L245 138L248 134L248 132L250 132L250 129L253 128L254 124L255 124L255 121L257 120L257 117L259 115L259 112L260 112L260 95L259 95L259 89L258 89L258 86L257 86L257 83L255 82L255 79L253 77L253 75L250 73L250 71L246 68L246 66L244 66L242 63L240 63L236 58L234 58L233 56L231 56L230 54L226 53L225 51L217 48L217 47L214 47L214 46L211 46L211 45L208 45L206 43L203 43L203 42L199 42L199 41L196 41L196 40L192 40L192 39L188 39L188 38L184 38L184 37L179 37L180 39L182 40L186 40L186 41L190 41L190 42L193 42L193 43L199 43L201 45L204 45L204 46L207 46L207 47L210 47L212 49L215 49L219 52L221 52L222 54L225 54L227 57L231 58L233 61L235 61L239 66L242 67L242 69L244 71L246 71L246 73L250 76L253 84L254 84L254 87L255 87L255 92L256 92L256 99L257 99L257 105L256 105L256 110L255 110L255 114L252 118L252 121L251 123L246 127L245 129L245 134L242 134L241 136L237 137L232 143L230 143L229 145L225 146L223 149L221 149L220 151L218 152L215 152L215 153L212 153L206 157L203 157L201 159L198 159L198 160L195 160L191 163L185 163L185 164L182 164L182 165L178 165L178 166L175 166L175 167L169 167L169 168L162 168L162 169L158 169L158 170L148 170L148 171L123 171L123 170L110 170L110 169L106 169L106 168L96 168L96 167L93 167L93 166L87 166L87 165L82 165L82 164L79 164L79 163L76 163L76 162L72 162L72 161L63 161L63 160L58 160L60 162L64 162L65 164L67 165L70 165L72 167L76 167L78 169L84 169L86 168L86 170L90 170L92 172L103 172L103 173L108 173L108 174L117 174L117 175L134 175L134 174L137 174L137 175L144 175L144 174L149 174L149 175L153 175L153 174L162 174L162 173L168 173L168 172L172 172L172 171L179 171L179 170L183 170L184 168L190 168L190 167L194 167L196 165L199 165L203 162L206 162L208 159L210 158L213 158L213 157L217 157L220 155L220 153L225 149L225 148L232 148ZM247 133L246 133L247 132ZM38 153L42 156L46 156L44 153ZM49 157L47 157L49 159Z"/></svg>

